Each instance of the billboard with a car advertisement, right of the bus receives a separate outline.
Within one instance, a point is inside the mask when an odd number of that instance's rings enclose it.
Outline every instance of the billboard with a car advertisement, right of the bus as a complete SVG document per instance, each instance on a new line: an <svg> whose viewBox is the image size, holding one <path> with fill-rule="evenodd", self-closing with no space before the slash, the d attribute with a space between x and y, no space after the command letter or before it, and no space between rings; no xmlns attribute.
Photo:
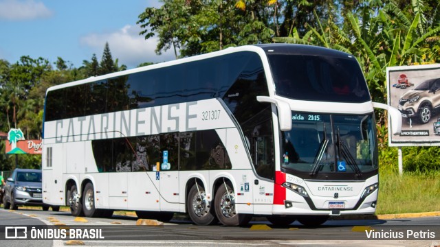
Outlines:
<svg viewBox="0 0 440 247"><path fill-rule="evenodd" d="M440 64L388 67L388 105L402 117L391 146L440 145ZM389 127L389 126L388 126Z"/></svg>

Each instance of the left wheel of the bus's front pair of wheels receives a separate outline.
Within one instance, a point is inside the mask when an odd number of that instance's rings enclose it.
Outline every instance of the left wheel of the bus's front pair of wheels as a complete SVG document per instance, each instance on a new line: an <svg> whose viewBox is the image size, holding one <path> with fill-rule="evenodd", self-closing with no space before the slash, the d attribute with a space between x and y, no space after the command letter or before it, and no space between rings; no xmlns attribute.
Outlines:
<svg viewBox="0 0 440 247"><path fill-rule="evenodd" d="M206 191L203 186L199 185L197 190L197 185L192 185L186 202L188 215L190 215L192 222L199 226L217 223L214 210L210 207L210 202L206 200Z"/></svg>

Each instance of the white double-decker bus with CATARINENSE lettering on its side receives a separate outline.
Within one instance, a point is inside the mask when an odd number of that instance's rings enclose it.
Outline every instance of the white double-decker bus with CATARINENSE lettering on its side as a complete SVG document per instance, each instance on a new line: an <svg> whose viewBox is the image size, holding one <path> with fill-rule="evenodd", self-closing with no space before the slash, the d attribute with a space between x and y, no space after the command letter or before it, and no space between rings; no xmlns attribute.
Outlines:
<svg viewBox="0 0 440 247"><path fill-rule="evenodd" d="M195 224L319 225L375 213L375 117L357 60L305 45L225 49L53 86L43 202ZM399 131L399 112L393 128Z"/></svg>

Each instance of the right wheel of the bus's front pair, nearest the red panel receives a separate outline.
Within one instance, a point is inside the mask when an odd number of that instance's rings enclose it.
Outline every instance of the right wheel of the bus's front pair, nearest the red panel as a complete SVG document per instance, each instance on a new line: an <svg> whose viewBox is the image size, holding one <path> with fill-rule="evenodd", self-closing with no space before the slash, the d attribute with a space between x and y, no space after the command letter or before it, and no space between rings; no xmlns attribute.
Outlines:
<svg viewBox="0 0 440 247"><path fill-rule="evenodd" d="M219 186L215 193L214 205L219 222L225 226L243 226L252 219L250 214L236 213L234 190L230 185L222 183Z"/></svg>

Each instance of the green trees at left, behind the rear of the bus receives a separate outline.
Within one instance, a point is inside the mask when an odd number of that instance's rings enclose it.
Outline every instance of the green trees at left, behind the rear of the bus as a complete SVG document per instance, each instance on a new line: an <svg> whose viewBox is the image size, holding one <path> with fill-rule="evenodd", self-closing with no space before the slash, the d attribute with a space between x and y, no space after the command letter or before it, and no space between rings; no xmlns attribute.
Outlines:
<svg viewBox="0 0 440 247"><path fill-rule="evenodd" d="M100 64L94 54L91 62L84 60L79 68L73 68L59 57L54 65L55 68L45 58L29 56L22 56L14 64L0 59L0 131L20 128L25 139L41 139L47 88L126 69L124 65L118 66L118 60L113 61L107 43ZM19 155L17 158L19 167L41 167L39 155ZM15 157L5 154L5 141L0 141L0 170L14 168L15 161Z"/></svg>

